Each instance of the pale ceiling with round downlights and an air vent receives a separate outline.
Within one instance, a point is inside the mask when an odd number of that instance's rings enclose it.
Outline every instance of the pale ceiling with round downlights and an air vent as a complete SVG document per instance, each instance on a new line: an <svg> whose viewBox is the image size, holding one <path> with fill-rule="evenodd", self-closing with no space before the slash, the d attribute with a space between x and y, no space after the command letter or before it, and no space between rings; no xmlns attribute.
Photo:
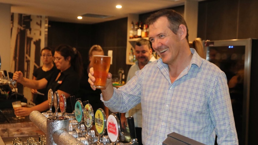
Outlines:
<svg viewBox="0 0 258 145"><path fill-rule="evenodd" d="M197 0L203 1L203 0ZM48 16L50 21L93 24L125 18L129 13L148 13L163 8L183 5L185 0L0 0L10 4L12 13ZM116 5L122 5L117 9ZM77 16L86 13L107 15L109 18Z"/></svg>

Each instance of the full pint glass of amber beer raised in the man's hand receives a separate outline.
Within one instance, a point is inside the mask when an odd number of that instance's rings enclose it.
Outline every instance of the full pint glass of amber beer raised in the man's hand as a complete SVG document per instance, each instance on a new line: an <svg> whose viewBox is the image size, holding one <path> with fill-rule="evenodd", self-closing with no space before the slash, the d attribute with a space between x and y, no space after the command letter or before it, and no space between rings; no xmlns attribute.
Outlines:
<svg viewBox="0 0 258 145"><path fill-rule="evenodd" d="M111 57L103 55L93 55L94 69L94 88L105 89L107 83L107 74L110 68Z"/></svg>

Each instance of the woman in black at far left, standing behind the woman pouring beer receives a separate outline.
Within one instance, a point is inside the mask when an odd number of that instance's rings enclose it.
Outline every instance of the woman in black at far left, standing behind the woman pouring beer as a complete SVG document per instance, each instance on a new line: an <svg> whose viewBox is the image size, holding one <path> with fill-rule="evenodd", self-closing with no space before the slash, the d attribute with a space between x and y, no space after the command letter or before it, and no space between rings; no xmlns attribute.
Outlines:
<svg viewBox="0 0 258 145"><path fill-rule="evenodd" d="M45 47L41 49L40 52L40 59L43 62L43 65L34 70L33 72L33 80L40 80L44 77L51 74L53 71L55 71L57 68L54 65L54 57L53 57L52 49L49 47ZM35 105L38 105L42 102L44 102L44 94L46 92L46 88L43 89L31 89L31 93L33 94L33 98L31 101L35 103Z"/></svg>

